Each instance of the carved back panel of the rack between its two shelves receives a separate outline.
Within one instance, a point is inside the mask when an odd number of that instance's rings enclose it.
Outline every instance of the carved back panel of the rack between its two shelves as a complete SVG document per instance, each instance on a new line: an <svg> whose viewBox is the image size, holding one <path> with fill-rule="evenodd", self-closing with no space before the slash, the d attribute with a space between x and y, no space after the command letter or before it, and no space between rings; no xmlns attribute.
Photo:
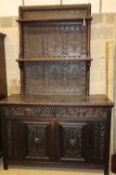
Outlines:
<svg viewBox="0 0 116 175"><path fill-rule="evenodd" d="M82 56L87 54L87 25L75 23L28 23L24 25L24 57Z"/></svg>

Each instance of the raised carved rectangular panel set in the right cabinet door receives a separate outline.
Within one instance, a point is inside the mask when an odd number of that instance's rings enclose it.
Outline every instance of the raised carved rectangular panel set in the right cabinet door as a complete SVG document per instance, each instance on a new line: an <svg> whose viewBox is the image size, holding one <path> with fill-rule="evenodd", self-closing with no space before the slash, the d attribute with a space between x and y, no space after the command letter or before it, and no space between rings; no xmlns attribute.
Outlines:
<svg viewBox="0 0 116 175"><path fill-rule="evenodd" d="M59 123L57 132L60 133L60 160L65 161L85 161L83 155L83 130L85 122L78 123ZM88 137L89 139L89 137ZM87 143L86 143L87 144Z"/></svg>

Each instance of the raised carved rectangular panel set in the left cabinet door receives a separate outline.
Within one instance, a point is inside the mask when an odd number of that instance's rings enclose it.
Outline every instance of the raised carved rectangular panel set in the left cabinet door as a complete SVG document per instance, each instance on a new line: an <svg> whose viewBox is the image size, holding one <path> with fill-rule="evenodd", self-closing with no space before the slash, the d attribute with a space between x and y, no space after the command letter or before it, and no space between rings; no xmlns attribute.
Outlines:
<svg viewBox="0 0 116 175"><path fill-rule="evenodd" d="M24 159L51 160L50 122L24 122Z"/></svg>

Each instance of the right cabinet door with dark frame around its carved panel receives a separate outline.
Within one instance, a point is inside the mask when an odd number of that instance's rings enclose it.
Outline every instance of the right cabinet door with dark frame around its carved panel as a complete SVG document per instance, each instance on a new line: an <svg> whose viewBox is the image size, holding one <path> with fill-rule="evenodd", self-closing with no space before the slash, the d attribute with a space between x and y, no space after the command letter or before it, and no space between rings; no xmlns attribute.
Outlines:
<svg viewBox="0 0 116 175"><path fill-rule="evenodd" d="M90 125L86 122L59 122L57 124L57 158L60 161L88 161ZM86 139L87 138L87 139ZM58 148L57 148L58 150Z"/></svg>

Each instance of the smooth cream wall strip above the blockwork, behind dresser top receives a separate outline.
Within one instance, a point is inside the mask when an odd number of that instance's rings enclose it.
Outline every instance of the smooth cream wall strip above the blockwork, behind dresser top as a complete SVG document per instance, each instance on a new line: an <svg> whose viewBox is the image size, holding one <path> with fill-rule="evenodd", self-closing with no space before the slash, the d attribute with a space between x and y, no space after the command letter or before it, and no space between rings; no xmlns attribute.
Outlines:
<svg viewBox="0 0 116 175"><path fill-rule="evenodd" d="M0 0L0 16L18 16L19 5L91 3L92 13L115 13L116 0Z"/></svg>

